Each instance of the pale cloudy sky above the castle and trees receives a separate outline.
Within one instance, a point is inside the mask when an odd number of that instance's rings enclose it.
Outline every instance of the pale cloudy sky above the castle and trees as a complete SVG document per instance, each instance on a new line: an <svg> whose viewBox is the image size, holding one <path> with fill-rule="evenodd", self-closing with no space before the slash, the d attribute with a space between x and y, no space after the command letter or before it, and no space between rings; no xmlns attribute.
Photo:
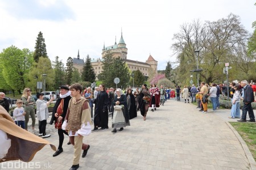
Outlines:
<svg viewBox="0 0 256 170"><path fill-rule="evenodd" d="M47 53L53 61L59 56L87 54L101 58L101 49L114 45L121 37L128 48L128 59L146 61L149 54L164 70L167 61L175 61L170 49L174 33L180 25L193 19L214 21L231 12L241 17L241 23L253 32L256 20L253 1L168 1L168 0L0 0L0 50L11 45L34 50L39 31L46 40Z"/></svg>

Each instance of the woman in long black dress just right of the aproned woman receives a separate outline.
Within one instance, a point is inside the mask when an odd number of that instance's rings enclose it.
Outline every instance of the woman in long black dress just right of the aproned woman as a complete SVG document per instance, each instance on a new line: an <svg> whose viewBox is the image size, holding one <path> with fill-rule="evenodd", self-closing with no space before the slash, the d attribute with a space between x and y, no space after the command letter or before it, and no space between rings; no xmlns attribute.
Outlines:
<svg viewBox="0 0 256 170"><path fill-rule="evenodd" d="M127 90L126 98L127 98L127 108L129 111L129 117L131 120L132 118L137 117L137 109L135 104L135 97L130 88Z"/></svg>

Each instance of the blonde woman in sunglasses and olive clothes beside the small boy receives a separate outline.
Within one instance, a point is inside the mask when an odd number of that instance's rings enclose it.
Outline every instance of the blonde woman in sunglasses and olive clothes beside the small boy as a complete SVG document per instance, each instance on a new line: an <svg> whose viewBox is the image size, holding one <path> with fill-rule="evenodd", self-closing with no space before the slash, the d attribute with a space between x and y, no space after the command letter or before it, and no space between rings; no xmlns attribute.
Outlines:
<svg viewBox="0 0 256 170"><path fill-rule="evenodd" d="M26 114L25 114L25 129L27 130L27 123L31 117L32 130L34 130L35 129L35 108L34 108L35 100L31 95L30 88L25 88L23 90L22 101L23 101L23 104L25 105L24 109L26 112Z"/></svg>

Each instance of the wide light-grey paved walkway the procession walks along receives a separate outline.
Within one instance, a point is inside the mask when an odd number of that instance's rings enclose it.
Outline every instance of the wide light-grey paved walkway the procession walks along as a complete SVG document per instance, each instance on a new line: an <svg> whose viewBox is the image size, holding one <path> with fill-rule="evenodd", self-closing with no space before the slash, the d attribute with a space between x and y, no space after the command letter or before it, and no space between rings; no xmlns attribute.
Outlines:
<svg viewBox="0 0 256 170"><path fill-rule="evenodd" d="M90 149L80 159L80 169L251 169L240 141L226 124L229 112L204 114L195 105L167 100L155 112L148 111L146 121L138 112L131 126L115 134L109 118L110 129L84 138ZM52 134L47 140L57 147L59 138L52 126L47 125ZM65 136L59 156L53 158L54 151L46 146L32 162L49 169L69 169L73 147L67 142Z"/></svg>

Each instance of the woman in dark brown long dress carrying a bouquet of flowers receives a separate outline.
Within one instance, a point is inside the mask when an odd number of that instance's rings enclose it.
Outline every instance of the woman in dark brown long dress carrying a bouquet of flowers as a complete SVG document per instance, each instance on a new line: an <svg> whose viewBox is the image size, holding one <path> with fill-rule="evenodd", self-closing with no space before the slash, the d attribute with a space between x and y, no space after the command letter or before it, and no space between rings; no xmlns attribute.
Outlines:
<svg viewBox="0 0 256 170"><path fill-rule="evenodd" d="M150 100L150 92L148 91L147 84L142 85L142 91L139 93L139 109L141 110L141 115L143 120L146 120L148 111L148 101Z"/></svg>

